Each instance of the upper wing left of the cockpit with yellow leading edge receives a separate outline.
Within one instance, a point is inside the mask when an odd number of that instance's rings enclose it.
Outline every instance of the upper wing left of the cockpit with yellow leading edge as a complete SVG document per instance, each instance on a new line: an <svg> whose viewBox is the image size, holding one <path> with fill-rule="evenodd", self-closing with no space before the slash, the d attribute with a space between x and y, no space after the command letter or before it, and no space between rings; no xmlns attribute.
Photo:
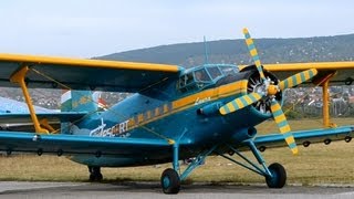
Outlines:
<svg viewBox="0 0 354 199"><path fill-rule="evenodd" d="M13 86L11 76L29 66L29 87L138 92L158 82L178 77L177 65L103 60L0 54L0 86Z"/></svg>

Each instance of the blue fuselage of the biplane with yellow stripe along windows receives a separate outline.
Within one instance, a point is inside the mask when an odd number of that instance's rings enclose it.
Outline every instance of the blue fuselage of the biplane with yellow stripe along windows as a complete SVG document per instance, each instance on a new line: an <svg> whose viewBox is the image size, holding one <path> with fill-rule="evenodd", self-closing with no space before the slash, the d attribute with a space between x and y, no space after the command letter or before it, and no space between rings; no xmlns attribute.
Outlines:
<svg viewBox="0 0 354 199"><path fill-rule="evenodd" d="M252 138L256 132L250 129L270 114L262 114L253 106L229 115L219 114L220 105L247 93L247 74L227 77L209 84L194 82L196 85L191 83L189 87L180 86L180 80L168 80L125 98L108 111L91 115L77 127L91 136L178 142L180 159L194 157L215 143L238 144ZM124 157L102 158L75 156L72 159L92 166L149 165L170 161L171 151L127 153Z"/></svg>

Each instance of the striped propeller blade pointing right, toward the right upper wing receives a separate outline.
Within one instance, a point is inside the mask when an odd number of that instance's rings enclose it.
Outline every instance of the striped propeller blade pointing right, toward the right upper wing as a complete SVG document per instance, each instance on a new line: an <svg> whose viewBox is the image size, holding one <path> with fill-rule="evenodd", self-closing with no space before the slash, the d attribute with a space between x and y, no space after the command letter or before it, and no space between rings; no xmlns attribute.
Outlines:
<svg viewBox="0 0 354 199"><path fill-rule="evenodd" d="M315 76L316 74L317 74L317 70L315 70L315 69L303 71L301 73L289 76L288 78L281 81L278 84L278 86L281 91L283 91L284 88L289 88L289 87L293 87L299 84L302 84L302 83L306 82L308 80L312 78L313 76Z"/></svg>

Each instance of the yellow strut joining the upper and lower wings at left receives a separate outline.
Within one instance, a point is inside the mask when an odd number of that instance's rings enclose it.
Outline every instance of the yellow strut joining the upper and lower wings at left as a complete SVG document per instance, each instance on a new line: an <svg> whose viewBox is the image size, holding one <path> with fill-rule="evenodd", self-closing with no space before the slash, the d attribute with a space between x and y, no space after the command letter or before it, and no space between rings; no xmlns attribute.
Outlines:
<svg viewBox="0 0 354 199"><path fill-rule="evenodd" d="M24 77L25 77L25 74L27 74L28 71L29 71L29 66L24 65L22 69L20 69L19 71L17 71L15 73L13 73L11 75L10 81L12 83L18 83L21 86L23 96L25 98L25 103L27 103L27 105L29 107L29 111L30 111L30 114L31 114L31 118L32 118L32 122L34 124L35 133L48 134L49 130L42 128L41 127L41 123L38 121L38 117L35 115L34 107L33 107L33 104L32 104L32 100L31 100L31 96L29 94L29 90L28 90L28 87L25 85L25 82L24 82Z"/></svg>

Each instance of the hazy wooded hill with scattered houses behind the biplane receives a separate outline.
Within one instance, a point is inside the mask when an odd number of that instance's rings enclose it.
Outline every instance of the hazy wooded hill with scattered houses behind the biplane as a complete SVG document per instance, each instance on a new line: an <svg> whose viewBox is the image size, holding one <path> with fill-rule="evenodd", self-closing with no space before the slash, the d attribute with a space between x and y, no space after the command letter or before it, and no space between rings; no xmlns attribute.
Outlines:
<svg viewBox="0 0 354 199"><path fill-rule="evenodd" d="M354 34L295 39L256 39L262 63L352 61ZM210 63L250 64L244 40L207 42ZM205 63L202 42L160 45L94 57L192 66Z"/></svg>

